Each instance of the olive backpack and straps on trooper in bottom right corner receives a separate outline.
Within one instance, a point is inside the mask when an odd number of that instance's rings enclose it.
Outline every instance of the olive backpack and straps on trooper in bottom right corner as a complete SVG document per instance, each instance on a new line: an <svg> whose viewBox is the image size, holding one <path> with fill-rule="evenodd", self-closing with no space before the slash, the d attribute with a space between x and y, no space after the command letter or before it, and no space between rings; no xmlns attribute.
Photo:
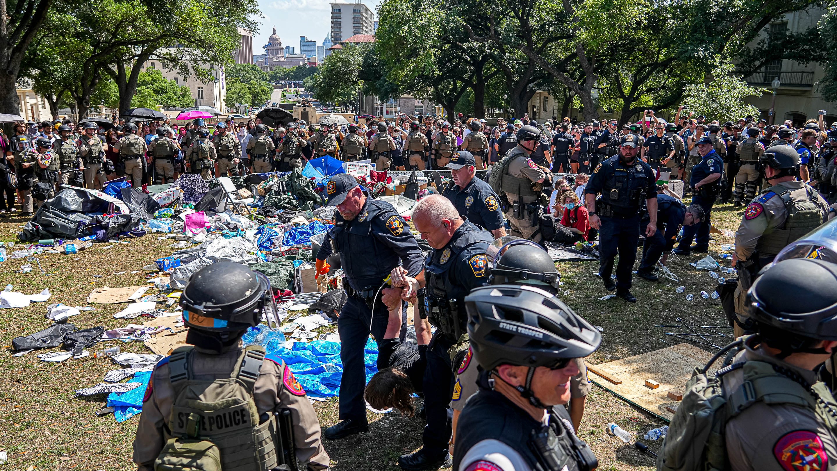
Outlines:
<svg viewBox="0 0 837 471"><path fill-rule="evenodd" d="M764 361L737 361L722 367L714 374L709 368L727 351L732 361L737 350L752 336L718 351L703 368L695 368L686 382L686 394L671 419L669 433L657 457L658 471L716 471L729 469L726 428L732 417L756 402L793 404L814 411L826 427L837 431L837 402L822 381L806 387L786 376L780 366ZM742 369L744 382L736 391L725 394L722 377L730 371Z"/></svg>

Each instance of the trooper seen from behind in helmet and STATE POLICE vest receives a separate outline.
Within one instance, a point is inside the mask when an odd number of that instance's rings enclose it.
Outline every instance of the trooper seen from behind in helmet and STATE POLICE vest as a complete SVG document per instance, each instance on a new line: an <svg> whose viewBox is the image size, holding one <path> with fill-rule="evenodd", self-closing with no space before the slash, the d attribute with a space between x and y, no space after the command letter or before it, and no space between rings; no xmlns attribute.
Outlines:
<svg viewBox="0 0 837 471"><path fill-rule="evenodd" d="M180 305L188 346L151 373L134 440L140 471L211 463L212 448L220 466L213 469L328 469L320 422L299 381L263 346L241 346L263 317L278 320L267 277L218 262L193 274Z"/></svg>

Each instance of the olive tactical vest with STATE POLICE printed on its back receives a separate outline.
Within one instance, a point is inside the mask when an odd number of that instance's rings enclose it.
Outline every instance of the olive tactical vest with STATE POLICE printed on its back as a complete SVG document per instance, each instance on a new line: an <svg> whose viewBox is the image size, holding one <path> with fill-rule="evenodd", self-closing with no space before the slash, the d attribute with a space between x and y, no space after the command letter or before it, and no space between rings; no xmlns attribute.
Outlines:
<svg viewBox="0 0 837 471"><path fill-rule="evenodd" d="M276 416L266 414L261 422L253 397L264 347L246 347L230 377L216 380L193 378L193 348L182 346L169 357L174 402L167 441L154 469L252 471L277 466L282 450Z"/></svg>

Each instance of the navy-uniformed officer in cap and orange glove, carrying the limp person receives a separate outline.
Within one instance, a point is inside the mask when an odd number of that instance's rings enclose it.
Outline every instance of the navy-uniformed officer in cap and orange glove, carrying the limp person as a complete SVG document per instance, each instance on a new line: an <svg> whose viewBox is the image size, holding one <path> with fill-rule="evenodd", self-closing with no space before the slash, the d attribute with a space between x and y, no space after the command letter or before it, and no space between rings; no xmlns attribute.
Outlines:
<svg viewBox="0 0 837 471"><path fill-rule="evenodd" d="M340 423L326 428L329 439L366 432L367 416L363 402L366 373L363 347L370 332L383 340L388 310L380 298L384 279L399 264L416 279L424 279L424 255L407 223L388 202L373 200L362 192L357 180L340 173L326 183L327 206L335 206L335 225L316 256L317 272L331 253L340 254L346 274L343 286L348 297L337 320L342 348L343 375L340 385ZM374 309L373 309L374 308ZM403 315L402 340L406 333ZM446 438L445 438L446 440Z"/></svg>

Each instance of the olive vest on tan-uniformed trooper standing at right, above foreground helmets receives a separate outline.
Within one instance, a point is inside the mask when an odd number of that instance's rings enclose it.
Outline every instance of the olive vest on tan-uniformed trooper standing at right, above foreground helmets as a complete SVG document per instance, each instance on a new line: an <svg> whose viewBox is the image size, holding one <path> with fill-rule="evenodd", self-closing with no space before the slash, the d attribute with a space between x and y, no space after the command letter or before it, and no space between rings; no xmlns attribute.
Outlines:
<svg viewBox="0 0 837 471"><path fill-rule="evenodd" d="M782 198L785 210L788 212L788 218L785 219L784 227L776 229L771 233L763 233L762 237L758 238L756 243L756 250L759 257L765 258L775 256L781 252L783 248L788 246L788 243L801 238L805 234L818 228L823 223L823 212L817 206L817 192L814 188L808 185L804 186L808 193L808 199L795 200L791 195L791 191L785 187L769 187L762 197L764 202L767 202L773 195L768 197L770 193Z"/></svg>

